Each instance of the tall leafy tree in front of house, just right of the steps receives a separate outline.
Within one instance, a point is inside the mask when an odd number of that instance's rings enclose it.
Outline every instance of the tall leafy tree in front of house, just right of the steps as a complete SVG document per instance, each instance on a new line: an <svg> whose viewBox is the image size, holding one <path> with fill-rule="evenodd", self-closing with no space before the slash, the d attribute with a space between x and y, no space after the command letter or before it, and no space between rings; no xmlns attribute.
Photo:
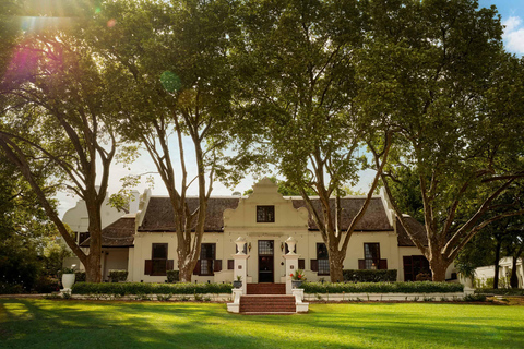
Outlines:
<svg viewBox="0 0 524 349"><path fill-rule="evenodd" d="M377 113L357 112L354 52L362 44L362 9L359 1L249 1L242 13L241 105L260 127L262 151L305 200L327 248L332 281L343 280L349 239L392 141L391 130L379 133L383 120ZM357 180L358 152L371 136L382 139L376 154L381 166L360 210L343 228L343 189Z"/></svg>

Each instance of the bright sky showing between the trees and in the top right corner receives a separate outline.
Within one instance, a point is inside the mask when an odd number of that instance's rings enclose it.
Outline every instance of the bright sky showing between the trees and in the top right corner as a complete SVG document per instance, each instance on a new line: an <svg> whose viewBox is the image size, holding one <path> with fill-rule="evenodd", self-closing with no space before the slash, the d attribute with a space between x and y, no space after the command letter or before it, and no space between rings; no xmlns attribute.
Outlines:
<svg viewBox="0 0 524 349"><path fill-rule="evenodd" d="M503 34L503 41L505 49L512 53L515 53L519 57L524 55L524 0L479 0L479 7L490 7L496 5L499 14L501 15L502 24L505 26ZM186 153L188 161L188 172L195 173L194 157L192 156L190 149L190 141L187 140ZM156 172L155 165L148 158L148 155L145 151L142 152L142 156L130 167L122 166L121 164L114 165L111 168L110 181L109 181L109 193L116 193L121 188L120 179L128 174L140 174L144 172ZM176 149L171 149L171 154L178 154ZM355 186L356 190L367 192L374 172L371 170L364 171L360 176L359 183ZM260 176L259 176L260 177ZM155 184L152 188L154 195L167 195L167 191L164 186L158 174L153 174ZM221 183L215 183L213 188L213 195L231 195L234 191L239 191L243 193L246 190L250 189L257 178L248 174L246 178L237 185L236 188L226 188ZM145 179L136 188L141 193L147 189L148 185L145 183ZM190 190L190 195L196 195L196 185L193 185ZM74 207L78 197L61 193L58 195L59 200L59 213L63 215L66 210Z"/></svg>

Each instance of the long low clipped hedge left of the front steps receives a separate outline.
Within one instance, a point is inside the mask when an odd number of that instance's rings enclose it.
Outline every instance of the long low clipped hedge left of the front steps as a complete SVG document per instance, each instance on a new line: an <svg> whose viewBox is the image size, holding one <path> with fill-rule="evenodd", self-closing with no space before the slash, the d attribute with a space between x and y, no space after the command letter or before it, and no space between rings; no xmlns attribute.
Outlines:
<svg viewBox="0 0 524 349"><path fill-rule="evenodd" d="M73 294L204 294L230 293L231 284L147 284L147 282L78 282L71 288Z"/></svg>

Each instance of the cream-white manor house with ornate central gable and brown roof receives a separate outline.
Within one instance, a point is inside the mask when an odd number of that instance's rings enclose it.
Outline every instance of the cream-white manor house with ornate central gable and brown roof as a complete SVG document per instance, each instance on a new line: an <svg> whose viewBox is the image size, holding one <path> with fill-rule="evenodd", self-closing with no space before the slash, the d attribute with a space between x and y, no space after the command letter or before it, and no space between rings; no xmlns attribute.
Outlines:
<svg viewBox="0 0 524 349"><path fill-rule="evenodd" d="M153 196L146 190L135 192L130 214L121 214L109 206L103 213L103 279L109 270L126 269L128 281L165 282L166 272L177 269L177 239L174 209L169 197ZM315 203L312 197L313 204ZM365 201L364 196L342 198L342 228ZM189 197L190 207L198 198ZM317 204L318 200L317 200ZM85 203L79 201L64 214L63 221L76 232L81 246L88 246ZM424 234L424 226L410 218L409 222ZM320 232L300 196L283 196L277 185L263 179L253 185L249 196L211 196L199 263L193 272L193 282L231 282L234 280L235 241L246 240L247 284L286 280L284 255L288 252L286 240L296 241L298 268L308 280L329 280L327 252ZM69 265L81 265L68 258ZM415 280L419 273L429 273L429 264L410 241L385 195L373 196L364 218L349 240L344 269L396 269L398 281ZM446 279L454 279L450 267ZM341 280L342 281L342 280Z"/></svg>

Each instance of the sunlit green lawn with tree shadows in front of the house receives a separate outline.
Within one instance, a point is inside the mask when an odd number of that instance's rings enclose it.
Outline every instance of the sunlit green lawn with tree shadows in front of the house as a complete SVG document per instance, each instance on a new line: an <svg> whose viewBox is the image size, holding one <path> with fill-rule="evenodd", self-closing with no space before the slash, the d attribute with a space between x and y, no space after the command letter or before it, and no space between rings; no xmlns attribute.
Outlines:
<svg viewBox="0 0 524 349"><path fill-rule="evenodd" d="M312 304L291 316L225 304L0 300L0 348L524 348L524 308Z"/></svg>

